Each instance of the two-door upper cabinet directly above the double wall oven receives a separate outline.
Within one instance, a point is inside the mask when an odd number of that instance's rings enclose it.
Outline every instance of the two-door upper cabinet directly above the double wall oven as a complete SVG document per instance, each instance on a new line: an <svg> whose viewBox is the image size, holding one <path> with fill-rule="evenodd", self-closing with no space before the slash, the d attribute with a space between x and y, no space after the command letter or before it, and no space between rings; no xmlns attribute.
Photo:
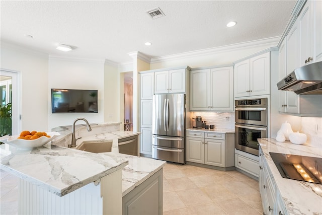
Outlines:
<svg viewBox="0 0 322 215"><path fill-rule="evenodd" d="M234 97L270 94L270 52L234 66Z"/></svg>

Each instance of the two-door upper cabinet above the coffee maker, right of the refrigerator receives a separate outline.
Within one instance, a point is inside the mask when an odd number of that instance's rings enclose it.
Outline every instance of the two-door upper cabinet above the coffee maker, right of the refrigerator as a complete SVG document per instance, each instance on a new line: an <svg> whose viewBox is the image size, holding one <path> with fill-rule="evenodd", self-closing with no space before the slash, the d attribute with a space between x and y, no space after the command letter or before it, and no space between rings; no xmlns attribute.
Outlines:
<svg viewBox="0 0 322 215"><path fill-rule="evenodd" d="M232 66L191 71L191 111L233 111Z"/></svg>

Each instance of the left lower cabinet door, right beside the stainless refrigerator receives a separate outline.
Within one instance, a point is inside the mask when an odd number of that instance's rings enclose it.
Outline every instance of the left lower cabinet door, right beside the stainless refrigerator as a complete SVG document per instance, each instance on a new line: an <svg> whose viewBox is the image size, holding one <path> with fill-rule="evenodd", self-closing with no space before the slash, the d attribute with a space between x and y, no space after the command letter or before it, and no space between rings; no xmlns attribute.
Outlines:
<svg viewBox="0 0 322 215"><path fill-rule="evenodd" d="M204 163L204 138L187 137L186 160L195 163Z"/></svg>

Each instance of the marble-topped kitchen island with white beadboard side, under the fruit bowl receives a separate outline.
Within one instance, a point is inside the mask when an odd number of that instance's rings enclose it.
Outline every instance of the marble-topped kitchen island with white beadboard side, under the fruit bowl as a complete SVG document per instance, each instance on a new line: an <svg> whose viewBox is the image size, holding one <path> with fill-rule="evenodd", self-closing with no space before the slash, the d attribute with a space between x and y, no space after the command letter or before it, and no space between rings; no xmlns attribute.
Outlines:
<svg viewBox="0 0 322 215"><path fill-rule="evenodd" d="M156 173L162 175L164 161L118 154L117 146L110 153L99 154L55 146L71 138L69 128L62 127L59 138L45 147L18 150L7 144L0 146L1 169L20 177L21 214L121 214L122 197L144 186ZM92 127L94 131L102 129ZM83 128L77 126L76 132L81 133ZM82 138L84 141L92 135L108 136L117 144L120 136L137 135L127 132L130 131L88 132ZM162 177L158 178L162 185Z"/></svg>

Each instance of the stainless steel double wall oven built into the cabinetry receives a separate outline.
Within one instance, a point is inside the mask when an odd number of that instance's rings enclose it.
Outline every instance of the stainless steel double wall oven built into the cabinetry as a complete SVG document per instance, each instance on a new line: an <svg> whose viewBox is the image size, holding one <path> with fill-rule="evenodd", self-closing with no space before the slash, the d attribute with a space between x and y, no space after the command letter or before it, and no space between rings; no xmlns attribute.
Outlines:
<svg viewBox="0 0 322 215"><path fill-rule="evenodd" d="M267 98L235 100L235 148L258 156L258 138L267 137Z"/></svg>

